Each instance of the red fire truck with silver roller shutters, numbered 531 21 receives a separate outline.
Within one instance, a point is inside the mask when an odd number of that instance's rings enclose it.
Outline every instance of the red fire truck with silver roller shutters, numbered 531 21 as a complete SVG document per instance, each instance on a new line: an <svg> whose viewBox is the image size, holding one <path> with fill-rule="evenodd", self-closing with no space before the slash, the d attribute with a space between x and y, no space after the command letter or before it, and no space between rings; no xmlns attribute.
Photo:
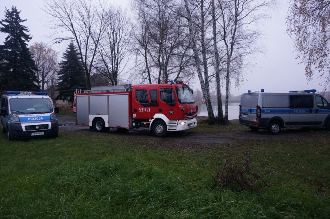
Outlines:
<svg viewBox="0 0 330 219"><path fill-rule="evenodd" d="M104 132L109 128L148 128L157 137L197 126L193 91L182 81L76 90L76 124Z"/></svg>

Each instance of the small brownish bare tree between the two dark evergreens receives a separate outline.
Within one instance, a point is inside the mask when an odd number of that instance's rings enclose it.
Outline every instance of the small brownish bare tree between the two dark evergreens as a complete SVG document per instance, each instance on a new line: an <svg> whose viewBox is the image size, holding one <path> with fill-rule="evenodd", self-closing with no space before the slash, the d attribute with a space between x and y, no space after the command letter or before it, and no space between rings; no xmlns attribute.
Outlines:
<svg viewBox="0 0 330 219"><path fill-rule="evenodd" d="M48 88L49 81L56 75L57 71L57 53L51 47L42 42L33 43L30 47L36 63L37 84L44 91Z"/></svg>

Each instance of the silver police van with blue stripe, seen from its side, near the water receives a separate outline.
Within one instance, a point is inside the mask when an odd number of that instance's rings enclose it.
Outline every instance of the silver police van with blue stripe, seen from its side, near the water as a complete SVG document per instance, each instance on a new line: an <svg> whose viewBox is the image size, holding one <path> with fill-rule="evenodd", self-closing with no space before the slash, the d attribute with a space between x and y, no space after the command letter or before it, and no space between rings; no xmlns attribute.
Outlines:
<svg viewBox="0 0 330 219"><path fill-rule="evenodd" d="M266 128L278 134L287 127L326 127L330 129L330 104L316 90L289 93L244 93L241 95L239 121L251 130Z"/></svg>

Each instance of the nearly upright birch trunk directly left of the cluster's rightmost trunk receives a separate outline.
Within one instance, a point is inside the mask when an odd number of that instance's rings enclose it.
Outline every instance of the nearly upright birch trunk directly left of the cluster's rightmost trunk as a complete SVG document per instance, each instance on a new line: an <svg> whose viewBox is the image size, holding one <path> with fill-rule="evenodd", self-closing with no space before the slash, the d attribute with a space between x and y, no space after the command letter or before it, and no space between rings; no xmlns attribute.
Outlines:
<svg viewBox="0 0 330 219"><path fill-rule="evenodd" d="M212 22L213 22L213 47L215 53L215 81L216 81L216 99L218 103L218 118L223 120L222 112L222 100L221 100L221 84L220 84L220 60L218 46L216 42L216 21L215 21L215 5L214 0L211 0L212 4Z"/></svg>

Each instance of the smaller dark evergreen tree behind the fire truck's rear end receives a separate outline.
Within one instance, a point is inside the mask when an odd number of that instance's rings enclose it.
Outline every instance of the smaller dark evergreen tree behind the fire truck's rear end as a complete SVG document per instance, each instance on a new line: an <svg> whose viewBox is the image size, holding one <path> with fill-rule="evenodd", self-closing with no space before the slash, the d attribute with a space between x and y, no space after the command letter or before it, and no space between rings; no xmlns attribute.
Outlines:
<svg viewBox="0 0 330 219"><path fill-rule="evenodd" d="M73 43L63 53L63 61L58 72L58 96L56 100L68 100L73 103L76 89L86 89L86 75L79 58L78 50Z"/></svg>

